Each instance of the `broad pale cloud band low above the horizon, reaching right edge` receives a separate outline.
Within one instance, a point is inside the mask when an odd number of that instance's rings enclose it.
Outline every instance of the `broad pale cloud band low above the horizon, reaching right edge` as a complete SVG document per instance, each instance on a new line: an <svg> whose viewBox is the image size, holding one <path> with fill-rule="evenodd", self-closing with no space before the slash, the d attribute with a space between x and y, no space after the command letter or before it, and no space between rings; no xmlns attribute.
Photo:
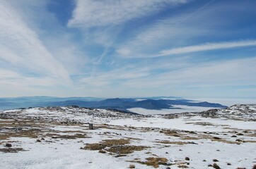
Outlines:
<svg viewBox="0 0 256 169"><path fill-rule="evenodd" d="M89 93L98 91L104 96L112 97L140 96L141 93L144 96L174 94L179 96L235 97L244 94L245 91L240 89L244 89L245 85L256 84L255 78L253 78L256 73L255 62L256 57L232 61L212 61L197 63L197 65L190 65L178 70L168 70L155 75L152 75L151 68L141 68L141 71L139 68L112 70L98 73L95 77L84 78L81 82L81 90L91 87ZM113 84L115 88L112 87ZM134 91L136 92L134 93ZM253 94L252 92L246 95L253 96Z"/></svg>

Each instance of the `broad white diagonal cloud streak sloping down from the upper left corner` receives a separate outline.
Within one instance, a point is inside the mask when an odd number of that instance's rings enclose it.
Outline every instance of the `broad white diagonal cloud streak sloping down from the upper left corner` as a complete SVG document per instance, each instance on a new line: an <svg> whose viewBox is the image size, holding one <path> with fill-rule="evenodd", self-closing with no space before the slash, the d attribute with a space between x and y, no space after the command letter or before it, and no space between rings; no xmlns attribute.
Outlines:
<svg viewBox="0 0 256 169"><path fill-rule="evenodd" d="M0 60L19 73L50 75L69 82L69 73L7 1L0 4ZM1 65L3 66L3 65Z"/></svg>

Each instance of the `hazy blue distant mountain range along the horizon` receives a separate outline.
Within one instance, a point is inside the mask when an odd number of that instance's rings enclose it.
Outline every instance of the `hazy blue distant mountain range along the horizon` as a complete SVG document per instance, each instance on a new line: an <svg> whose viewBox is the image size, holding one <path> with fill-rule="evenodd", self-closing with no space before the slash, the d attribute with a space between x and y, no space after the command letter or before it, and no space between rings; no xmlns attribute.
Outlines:
<svg viewBox="0 0 256 169"><path fill-rule="evenodd" d="M119 111L127 111L128 108L146 108L161 110L174 108L174 105L200 106L212 108L226 108L221 104L213 104L206 101L193 101L173 96L158 96L147 98L115 98L103 99L95 97L52 97L52 96L29 96L0 98L0 110L13 108L28 108L39 106L80 106L88 108L105 108ZM175 109L179 109L175 106Z"/></svg>

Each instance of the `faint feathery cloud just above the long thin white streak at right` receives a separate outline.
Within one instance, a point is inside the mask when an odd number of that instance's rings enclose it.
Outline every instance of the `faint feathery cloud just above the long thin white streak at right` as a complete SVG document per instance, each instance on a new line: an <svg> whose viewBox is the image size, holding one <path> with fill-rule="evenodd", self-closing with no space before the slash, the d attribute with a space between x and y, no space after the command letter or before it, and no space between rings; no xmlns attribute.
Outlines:
<svg viewBox="0 0 256 169"><path fill-rule="evenodd" d="M192 14L189 13L189 15ZM187 18L187 15L175 15L137 30L139 33L135 37L117 46L117 54L123 58L153 57L168 46L190 44L195 37L199 38L216 32L207 24L198 27L190 20L185 22L184 18ZM194 22L200 20L198 17L195 18L192 18L196 20Z"/></svg>

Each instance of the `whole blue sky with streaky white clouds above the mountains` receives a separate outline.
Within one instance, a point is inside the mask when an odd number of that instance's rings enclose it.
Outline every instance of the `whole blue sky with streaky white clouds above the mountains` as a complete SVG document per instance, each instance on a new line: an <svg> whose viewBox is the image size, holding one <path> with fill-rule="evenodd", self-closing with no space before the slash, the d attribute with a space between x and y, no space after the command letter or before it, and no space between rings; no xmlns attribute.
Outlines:
<svg viewBox="0 0 256 169"><path fill-rule="evenodd" d="M0 0L0 97L255 99L255 8L255 0Z"/></svg>

